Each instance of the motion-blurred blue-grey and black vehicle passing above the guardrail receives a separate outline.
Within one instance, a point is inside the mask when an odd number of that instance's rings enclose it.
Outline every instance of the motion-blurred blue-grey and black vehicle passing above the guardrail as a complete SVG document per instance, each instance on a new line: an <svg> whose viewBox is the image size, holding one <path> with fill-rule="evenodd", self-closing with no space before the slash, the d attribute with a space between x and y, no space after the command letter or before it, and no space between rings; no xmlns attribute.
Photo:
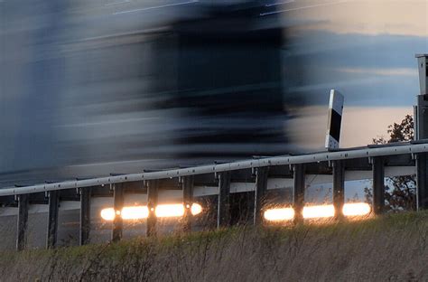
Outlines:
<svg viewBox="0 0 428 282"><path fill-rule="evenodd" d="M0 186L292 149L275 5L22 5L3 4Z"/></svg>

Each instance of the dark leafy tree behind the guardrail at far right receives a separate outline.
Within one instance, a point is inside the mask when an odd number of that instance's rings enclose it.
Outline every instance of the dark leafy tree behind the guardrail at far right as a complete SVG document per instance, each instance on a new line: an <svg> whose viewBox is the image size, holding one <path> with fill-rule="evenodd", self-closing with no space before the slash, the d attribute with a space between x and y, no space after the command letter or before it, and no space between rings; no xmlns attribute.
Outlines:
<svg viewBox="0 0 428 282"><path fill-rule="evenodd" d="M374 144L387 144L414 139L414 119L406 115L401 123L388 126L389 139L383 136L373 138ZM371 198L371 191L365 189L366 197ZM386 211L403 211L416 209L416 180L414 175L388 177L385 185Z"/></svg>

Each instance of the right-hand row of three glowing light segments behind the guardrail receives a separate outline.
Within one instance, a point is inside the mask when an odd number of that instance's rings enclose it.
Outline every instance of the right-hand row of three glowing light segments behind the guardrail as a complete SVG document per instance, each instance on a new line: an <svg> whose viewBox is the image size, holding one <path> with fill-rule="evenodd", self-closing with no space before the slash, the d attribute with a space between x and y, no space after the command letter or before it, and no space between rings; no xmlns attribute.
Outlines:
<svg viewBox="0 0 428 282"><path fill-rule="evenodd" d="M343 205L343 214L349 217L365 216L371 211L370 205L366 202L352 202ZM334 216L334 206L318 205L306 206L303 208L304 219L321 219ZM293 208L278 208L266 210L264 213L266 221L291 221L294 218Z"/></svg>

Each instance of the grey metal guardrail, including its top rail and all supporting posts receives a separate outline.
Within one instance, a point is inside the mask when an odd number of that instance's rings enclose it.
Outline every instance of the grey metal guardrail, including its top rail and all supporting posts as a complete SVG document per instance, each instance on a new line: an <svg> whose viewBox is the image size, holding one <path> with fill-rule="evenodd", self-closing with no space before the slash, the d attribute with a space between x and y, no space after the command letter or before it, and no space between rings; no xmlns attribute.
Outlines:
<svg viewBox="0 0 428 282"><path fill-rule="evenodd" d="M168 182L169 179L175 179L173 182L177 182L179 179L179 189L181 189L182 195L182 206L184 213L182 215L182 222L184 222L184 230L191 230L191 202L193 198L202 195L201 191L210 191L210 195L218 195L218 206L217 206L217 226L223 227L228 226L230 217L230 202L229 194L233 193L231 187L237 188L237 185L244 184L244 187L239 188L239 192L254 192L254 209L252 211L254 224L260 224L263 222L263 211L265 209L264 199L269 189L273 187L272 182L278 180L278 178L272 177L276 174L270 174L271 170L274 170L274 166L290 166L290 169L286 169L286 178L279 178L284 184L284 180L289 183L290 188L293 189L293 221L303 221L303 208L304 208L304 192L306 189L305 179L308 174L311 174L309 170L306 170L306 166L310 164L316 167L317 170L324 171L326 168L326 162L329 162L330 166L327 170L327 174L332 176L332 191L333 191L333 205L335 211L335 217L340 218L344 216L343 208L345 205L345 180L349 177L349 174L355 172L352 169L361 169L359 163L360 159L368 158L363 162L363 169L367 171L371 170L370 178L373 179L373 202L372 211L374 214L379 214L383 211L385 205L384 192L385 192L385 177L387 175L398 175L403 174L414 174L416 172L417 178L417 194L418 194L418 207L424 207L428 202L428 195L426 189L427 183L427 167L426 167L426 154L428 152L428 140L419 140L418 142L410 143L396 143L387 144L381 146L366 146L358 148L350 148L346 150L338 150L334 152L320 152L306 155L282 155L274 157L265 157L258 159L251 159L246 161L239 161L227 164L209 164L200 165L189 168L164 170L158 172L144 172L141 174L121 174L111 175L107 177L98 177L92 179L65 181L60 183L42 183L23 187L13 187L0 189L0 197L15 196L17 202L17 232L16 232L16 249L21 250L26 248L26 233L28 225L28 214L30 206L30 196L34 194L33 200L38 195L37 193L45 193L43 202L48 204L48 232L46 236L46 247L48 249L56 246L57 230L58 230L58 217L60 207L60 191L69 190L66 193L70 193L70 190L76 190L79 193L79 244L83 245L89 241L89 230L90 230L90 202L93 196L93 188L107 185L106 190L113 191L113 211L115 212L115 218L113 221L112 239L113 241L120 240L122 238L123 223L121 219L121 212L125 209L124 196L126 193L127 185L125 183L144 183L144 193L146 193L146 207L147 207L147 218L146 218L146 235L154 236L156 233L156 215L155 209L158 205L158 198L160 193L163 191L160 182ZM398 155L407 155L405 157L398 157ZM415 162L412 161L408 155L412 155ZM417 157L415 157L417 156ZM386 166L386 159L393 161L390 165ZM353 161L355 160L355 162ZM397 162L398 161L398 162ZM331 163L330 163L331 162ZM369 163L369 164L368 164ZM416 169L414 169L414 163ZM347 169L345 170L345 165ZM394 165L406 165L412 167L412 169L403 169L403 166ZM401 167L401 168L400 168ZM386 169L387 168L387 169ZM239 174L238 171L249 174L249 169L252 171L253 180L251 183L240 183L232 181L232 172ZM282 171L282 169L280 169ZM388 172L389 171L389 172ZM256 181L254 182L254 174ZM218 174L217 183L214 186L200 186L200 183L195 184L194 178L197 175L205 177L209 174ZM293 174L291 176L290 174ZM271 176L271 177L269 177ZM291 178L292 177L292 178ZM269 184L270 183L270 184ZM248 188L247 186L251 186ZM284 185L280 185L284 188ZM127 187L127 188L126 188ZM276 187L274 185L274 187ZM287 186L288 187L288 186ZM164 187L163 187L164 189ZM104 189L101 188L102 191ZM167 190L166 190L167 191ZM198 192L199 191L199 192ZM141 193L141 192L140 192ZM76 195L76 193L74 193ZM111 194L110 194L111 196ZM46 202L46 199L48 202ZM117 216L118 215L118 216Z"/></svg>

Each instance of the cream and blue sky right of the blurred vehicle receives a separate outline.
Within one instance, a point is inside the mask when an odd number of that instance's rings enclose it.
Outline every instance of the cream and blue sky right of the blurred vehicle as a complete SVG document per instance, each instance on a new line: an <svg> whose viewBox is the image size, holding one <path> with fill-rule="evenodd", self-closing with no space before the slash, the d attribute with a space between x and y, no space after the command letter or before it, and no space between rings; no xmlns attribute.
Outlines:
<svg viewBox="0 0 428 282"><path fill-rule="evenodd" d="M294 139L323 146L330 89L345 97L341 147L367 145L413 114L419 94L414 54L428 53L428 1L296 0L282 13L307 77L291 86L293 95L307 97L293 123L312 129L295 130Z"/></svg>

